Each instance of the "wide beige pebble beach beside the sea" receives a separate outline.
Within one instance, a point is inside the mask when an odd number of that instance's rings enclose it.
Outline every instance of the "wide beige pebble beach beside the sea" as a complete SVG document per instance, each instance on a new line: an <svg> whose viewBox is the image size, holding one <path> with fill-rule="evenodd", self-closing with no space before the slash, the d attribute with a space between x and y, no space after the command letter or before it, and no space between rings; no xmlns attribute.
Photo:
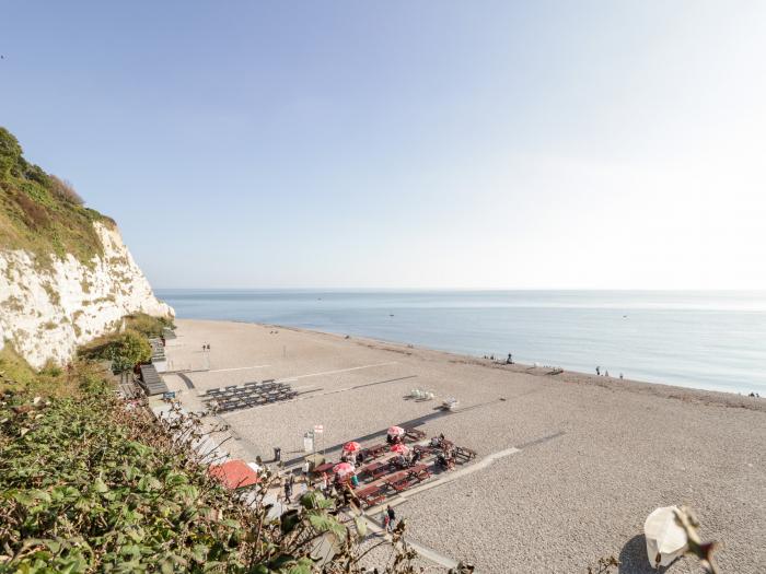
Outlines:
<svg viewBox="0 0 766 574"><path fill-rule="evenodd" d="M220 414L232 456L290 462L303 434L317 449L380 443L393 424L443 433L477 453L450 480L392 501L428 571L451 561L480 573L588 572L615 557L619 573L653 571L643 520L687 504L721 572L766 571L766 400L596 377L268 325L178 319L164 375L182 405L206 389L277 379L293 400ZM210 345L209 352L201 350ZM414 388L432 400L410 398ZM439 406L455 398L451 412ZM471 467L475 467L471 469ZM428 482L426 483L428 484ZM701 572L683 558L672 573Z"/></svg>

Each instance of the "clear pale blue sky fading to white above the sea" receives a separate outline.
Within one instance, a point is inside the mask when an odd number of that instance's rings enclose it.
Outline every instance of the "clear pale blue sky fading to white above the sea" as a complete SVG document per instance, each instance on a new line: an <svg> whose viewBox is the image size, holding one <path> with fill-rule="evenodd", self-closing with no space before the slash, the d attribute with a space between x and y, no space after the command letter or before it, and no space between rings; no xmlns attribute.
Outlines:
<svg viewBox="0 0 766 574"><path fill-rule="evenodd" d="M766 2L3 5L158 288L766 289Z"/></svg>

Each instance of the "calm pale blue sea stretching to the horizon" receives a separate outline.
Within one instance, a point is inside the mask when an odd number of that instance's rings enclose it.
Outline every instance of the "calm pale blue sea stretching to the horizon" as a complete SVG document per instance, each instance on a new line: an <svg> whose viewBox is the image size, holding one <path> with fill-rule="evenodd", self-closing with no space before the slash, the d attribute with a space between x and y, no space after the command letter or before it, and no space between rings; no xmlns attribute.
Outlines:
<svg viewBox="0 0 766 574"><path fill-rule="evenodd" d="M182 318L267 323L766 396L766 292L158 290Z"/></svg>

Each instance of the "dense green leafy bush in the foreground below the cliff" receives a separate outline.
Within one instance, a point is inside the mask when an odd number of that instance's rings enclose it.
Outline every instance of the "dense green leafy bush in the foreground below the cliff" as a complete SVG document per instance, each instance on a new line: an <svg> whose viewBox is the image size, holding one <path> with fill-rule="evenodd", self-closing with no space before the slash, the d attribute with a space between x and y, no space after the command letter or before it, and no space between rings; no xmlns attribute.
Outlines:
<svg viewBox="0 0 766 574"><path fill-rule="evenodd" d="M362 523L320 493L268 519L264 475L249 505L192 454L199 421L160 425L92 377L79 398L0 396L0 572L359 573ZM338 549L309 557L330 536ZM395 536L385 572L414 572ZM390 544L390 542L380 542Z"/></svg>

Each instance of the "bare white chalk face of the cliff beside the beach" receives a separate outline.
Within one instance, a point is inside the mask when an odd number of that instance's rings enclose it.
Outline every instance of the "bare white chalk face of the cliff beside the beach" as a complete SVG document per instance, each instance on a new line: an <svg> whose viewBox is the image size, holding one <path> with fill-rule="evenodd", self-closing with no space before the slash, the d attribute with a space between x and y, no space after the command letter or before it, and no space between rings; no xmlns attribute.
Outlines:
<svg viewBox="0 0 766 574"><path fill-rule="evenodd" d="M77 345L119 326L125 315L173 315L156 300L117 229L93 222L103 253L45 266L25 249L0 250L0 345L10 341L35 367L69 361Z"/></svg>

